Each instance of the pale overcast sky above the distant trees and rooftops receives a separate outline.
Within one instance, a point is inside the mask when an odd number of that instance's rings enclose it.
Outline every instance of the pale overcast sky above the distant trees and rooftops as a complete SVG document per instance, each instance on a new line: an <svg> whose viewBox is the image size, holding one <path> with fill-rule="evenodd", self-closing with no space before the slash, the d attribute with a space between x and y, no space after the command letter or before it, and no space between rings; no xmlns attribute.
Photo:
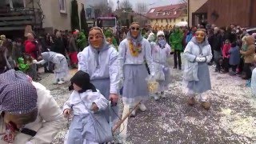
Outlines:
<svg viewBox="0 0 256 144"><path fill-rule="evenodd" d="M115 8L117 7L118 0L109 0L109 1L112 1L114 3ZM122 1L123 0L119 0L119 3L121 3ZM177 4L180 2L180 0L129 0L129 1L130 3L133 4L134 7L138 2L146 2L146 4L148 5L148 10L150 10L151 7L166 6L171 4Z"/></svg>

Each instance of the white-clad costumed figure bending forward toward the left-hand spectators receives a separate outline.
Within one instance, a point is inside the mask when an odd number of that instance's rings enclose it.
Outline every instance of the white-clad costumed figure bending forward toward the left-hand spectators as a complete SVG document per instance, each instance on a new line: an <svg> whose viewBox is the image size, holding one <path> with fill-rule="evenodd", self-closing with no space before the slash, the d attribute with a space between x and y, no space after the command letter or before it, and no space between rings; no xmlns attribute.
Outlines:
<svg viewBox="0 0 256 144"><path fill-rule="evenodd" d="M58 54L55 52L43 52L42 53L42 60L37 61L34 60L33 63L35 64L45 64L46 62L53 62L54 63L54 74L56 81L54 84L62 85L65 82L65 78L69 74L69 67L66 62L66 57L62 54Z"/></svg>

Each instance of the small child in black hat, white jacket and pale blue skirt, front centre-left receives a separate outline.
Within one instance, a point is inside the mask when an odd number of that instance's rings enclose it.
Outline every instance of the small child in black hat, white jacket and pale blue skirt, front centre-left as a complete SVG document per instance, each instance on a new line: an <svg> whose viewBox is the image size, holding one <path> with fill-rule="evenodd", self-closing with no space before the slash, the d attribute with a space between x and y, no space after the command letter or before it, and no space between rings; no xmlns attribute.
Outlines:
<svg viewBox="0 0 256 144"><path fill-rule="evenodd" d="M63 114L66 118L70 116L71 110L74 117L72 118L69 132L66 135L66 144L95 144L96 128L94 119L91 115L102 113L106 110L108 101L96 90L95 86L90 83L90 76L86 72L79 70L74 77L70 79L73 90L70 98L63 106ZM102 119L106 118L102 114ZM106 122L107 123L107 122ZM102 123L101 123L102 124Z"/></svg>

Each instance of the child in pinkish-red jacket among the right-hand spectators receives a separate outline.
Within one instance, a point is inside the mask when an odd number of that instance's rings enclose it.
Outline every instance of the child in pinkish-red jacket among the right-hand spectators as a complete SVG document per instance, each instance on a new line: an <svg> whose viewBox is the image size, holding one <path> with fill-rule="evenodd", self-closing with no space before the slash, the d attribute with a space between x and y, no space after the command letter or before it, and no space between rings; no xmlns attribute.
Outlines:
<svg viewBox="0 0 256 144"><path fill-rule="evenodd" d="M230 40L229 39L226 39L225 41L225 44L222 48L222 58L223 58L223 68L224 68L224 71L223 73L228 73L229 72L229 61L230 61L230 47L231 47L231 44L230 44Z"/></svg>

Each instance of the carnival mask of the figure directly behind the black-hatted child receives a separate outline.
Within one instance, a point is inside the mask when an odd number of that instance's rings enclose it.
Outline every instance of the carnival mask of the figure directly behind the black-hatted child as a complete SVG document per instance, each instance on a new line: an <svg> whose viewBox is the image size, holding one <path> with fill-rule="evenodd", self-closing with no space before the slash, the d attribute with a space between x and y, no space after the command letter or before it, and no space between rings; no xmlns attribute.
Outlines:
<svg viewBox="0 0 256 144"><path fill-rule="evenodd" d="M90 42L90 45L93 46L95 49L100 48L103 43L102 31L98 29L90 30L89 42Z"/></svg>

